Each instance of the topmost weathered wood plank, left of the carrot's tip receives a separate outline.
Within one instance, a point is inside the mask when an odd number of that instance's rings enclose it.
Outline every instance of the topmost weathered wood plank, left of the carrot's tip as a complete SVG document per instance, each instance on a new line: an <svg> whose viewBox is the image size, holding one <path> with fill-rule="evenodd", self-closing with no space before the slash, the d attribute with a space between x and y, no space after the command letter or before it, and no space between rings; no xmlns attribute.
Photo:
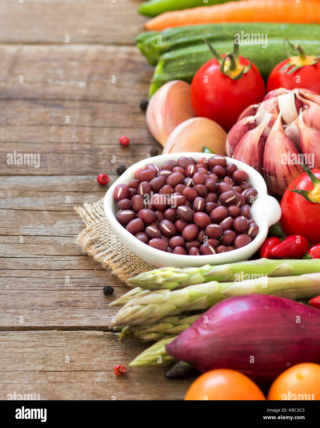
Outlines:
<svg viewBox="0 0 320 428"><path fill-rule="evenodd" d="M146 20L135 0L28 0L0 3L0 41L132 44Z"/></svg>

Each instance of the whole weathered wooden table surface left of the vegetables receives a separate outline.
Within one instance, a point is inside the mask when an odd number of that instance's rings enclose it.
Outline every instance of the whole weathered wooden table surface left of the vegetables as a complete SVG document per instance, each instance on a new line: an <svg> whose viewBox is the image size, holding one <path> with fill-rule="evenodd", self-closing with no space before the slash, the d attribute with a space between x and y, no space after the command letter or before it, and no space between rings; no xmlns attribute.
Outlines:
<svg viewBox="0 0 320 428"><path fill-rule="evenodd" d="M139 109L153 71L134 45L145 18L139 1L114 1L0 3L2 400L14 391L42 400L181 399L190 384L166 380L164 367L129 369L146 345L119 342L106 327L116 312L108 303L127 288L75 244L83 224L74 206L106 191L96 176L106 172L112 183L117 166L160 149ZM39 153L39 168L8 164L14 152ZM117 363L126 376L113 374Z"/></svg>

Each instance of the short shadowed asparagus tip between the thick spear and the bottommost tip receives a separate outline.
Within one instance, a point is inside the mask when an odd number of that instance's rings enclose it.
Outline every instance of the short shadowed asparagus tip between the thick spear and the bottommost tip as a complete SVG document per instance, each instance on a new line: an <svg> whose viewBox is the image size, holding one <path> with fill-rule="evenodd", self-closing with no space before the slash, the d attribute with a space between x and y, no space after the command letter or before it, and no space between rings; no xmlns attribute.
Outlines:
<svg viewBox="0 0 320 428"><path fill-rule="evenodd" d="M142 342L148 342L149 340L160 340L172 335L182 333L184 330L190 327L201 314L196 315L175 315L165 317L160 320L159 323L151 325L138 325L129 326L127 325L121 331L118 339L139 339ZM117 328L117 327L116 327Z"/></svg>

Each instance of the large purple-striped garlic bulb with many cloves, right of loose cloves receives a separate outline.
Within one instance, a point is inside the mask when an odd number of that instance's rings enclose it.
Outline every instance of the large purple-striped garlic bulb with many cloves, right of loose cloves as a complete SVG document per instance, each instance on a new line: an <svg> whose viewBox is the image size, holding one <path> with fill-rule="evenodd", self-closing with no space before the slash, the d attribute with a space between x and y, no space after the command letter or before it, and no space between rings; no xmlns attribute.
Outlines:
<svg viewBox="0 0 320 428"><path fill-rule="evenodd" d="M255 115L250 117L252 111ZM270 193L282 195L302 173L296 161L320 168L320 95L279 88L240 118L228 133L226 152L257 169ZM248 123L253 127L246 128Z"/></svg>

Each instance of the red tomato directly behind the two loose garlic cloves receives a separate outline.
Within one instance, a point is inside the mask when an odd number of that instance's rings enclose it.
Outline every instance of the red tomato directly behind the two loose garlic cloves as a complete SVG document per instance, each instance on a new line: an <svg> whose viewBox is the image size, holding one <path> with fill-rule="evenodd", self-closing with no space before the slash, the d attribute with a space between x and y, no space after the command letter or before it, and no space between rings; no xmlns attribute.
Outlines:
<svg viewBox="0 0 320 428"><path fill-rule="evenodd" d="M250 63L242 56L239 60L241 65ZM229 131L240 113L250 104L262 101L265 93L264 80L255 64L239 80L233 80L220 71L219 61L213 58L202 65L193 77L191 104L197 116L212 119Z"/></svg>

